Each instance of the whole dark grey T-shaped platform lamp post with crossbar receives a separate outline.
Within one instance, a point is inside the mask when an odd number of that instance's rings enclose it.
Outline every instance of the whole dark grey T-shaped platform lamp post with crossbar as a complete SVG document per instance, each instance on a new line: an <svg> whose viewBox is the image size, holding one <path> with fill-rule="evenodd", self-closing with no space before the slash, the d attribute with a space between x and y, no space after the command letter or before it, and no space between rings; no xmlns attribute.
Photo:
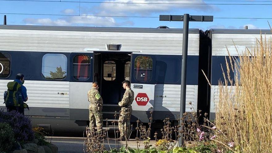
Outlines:
<svg viewBox="0 0 272 153"><path fill-rule="evenodd" d="M181 105L180 105L180 118L185 113L185 102L186 102L186 74L187 74L187 54L188 54L188 34L189 34L189 21L197 22L212 22L213 16L211 15L159 15L160 21L183 21L183 38L182 38L182 62L181 62ZM180 119L179 118L179 119ZM181 126L179 130L183 130ZM179 147L184 143L183 134L179 139Z"/></svg>

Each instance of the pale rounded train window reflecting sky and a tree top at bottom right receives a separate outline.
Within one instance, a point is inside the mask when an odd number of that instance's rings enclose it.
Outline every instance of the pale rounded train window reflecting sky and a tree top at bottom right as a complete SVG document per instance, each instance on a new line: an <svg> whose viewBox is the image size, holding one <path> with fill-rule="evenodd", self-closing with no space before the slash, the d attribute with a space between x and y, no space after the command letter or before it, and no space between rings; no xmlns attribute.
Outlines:
<svg viewBox="0 0 272 153"><path fill-rule="evenodd" d="M67 57L64 54L45 54L42 58L42 74L45 79L64 79L67 73Z"/></svg>

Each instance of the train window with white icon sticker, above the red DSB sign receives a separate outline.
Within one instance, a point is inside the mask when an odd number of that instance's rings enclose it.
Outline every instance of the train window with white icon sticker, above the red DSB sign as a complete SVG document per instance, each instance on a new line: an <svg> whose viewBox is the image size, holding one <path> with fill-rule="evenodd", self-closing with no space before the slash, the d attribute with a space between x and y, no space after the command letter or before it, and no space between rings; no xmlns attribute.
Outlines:
<svg viewBox="0 0 272 153"><path fill-rule="evenodd" d="M152 79L153 61L149 56L137 56L134 62L134 79L149 82Z"/></svg>

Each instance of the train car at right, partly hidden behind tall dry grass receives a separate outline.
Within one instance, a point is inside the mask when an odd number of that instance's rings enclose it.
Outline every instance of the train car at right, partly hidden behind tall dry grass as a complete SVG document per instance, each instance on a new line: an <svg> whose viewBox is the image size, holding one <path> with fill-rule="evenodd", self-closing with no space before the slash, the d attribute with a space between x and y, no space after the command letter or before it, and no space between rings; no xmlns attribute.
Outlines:
<svg viewBox="0 0 272 153"><path fill-rule="evenodd" d="M223 81L223 74L221 69L221 64L224 72L227 72L225 56L227 56L227 61L229 61L229 55L236 57L236 61L239 63L238 53L246 50L246 47L250 50L251 47L256 47L257 39L260 40L260 33L262 33L263 41L265 36L266 41L271 39L272 32L270 30L259 30L259 29L210 29L206 32L210 39L210 49L209 52L212 54L209 60L209 78L211 83L210 90L210 120L215 119L216 103L219 100L219 84L218 80ZM264 41L265 42L265 41ZM228 49L228 51L227 51ZM236 51L237 49L237 51ZM229 67L231 70L231 67ZM234 70L236 71L236 70ZM235 74L231 72L230 77L234 80ZM238 76L239 78L239 76ZM230 83L228 83L230 86ZM233 90L234 91L234 90Z"/></svg>

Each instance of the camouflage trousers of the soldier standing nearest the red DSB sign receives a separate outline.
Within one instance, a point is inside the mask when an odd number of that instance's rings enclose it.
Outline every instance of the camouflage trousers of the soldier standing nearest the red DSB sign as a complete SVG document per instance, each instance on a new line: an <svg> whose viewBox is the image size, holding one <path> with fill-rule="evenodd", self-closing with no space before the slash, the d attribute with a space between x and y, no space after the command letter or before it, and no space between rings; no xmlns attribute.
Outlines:
<svg viewBox="0 0 272 153"><path fill-rule="evenodd" d="M120 131L120 136L129 138L130 136L130 116L131 116L132 108L121 109L121 115L119 116L119 124L118 128Z"/></svg>

